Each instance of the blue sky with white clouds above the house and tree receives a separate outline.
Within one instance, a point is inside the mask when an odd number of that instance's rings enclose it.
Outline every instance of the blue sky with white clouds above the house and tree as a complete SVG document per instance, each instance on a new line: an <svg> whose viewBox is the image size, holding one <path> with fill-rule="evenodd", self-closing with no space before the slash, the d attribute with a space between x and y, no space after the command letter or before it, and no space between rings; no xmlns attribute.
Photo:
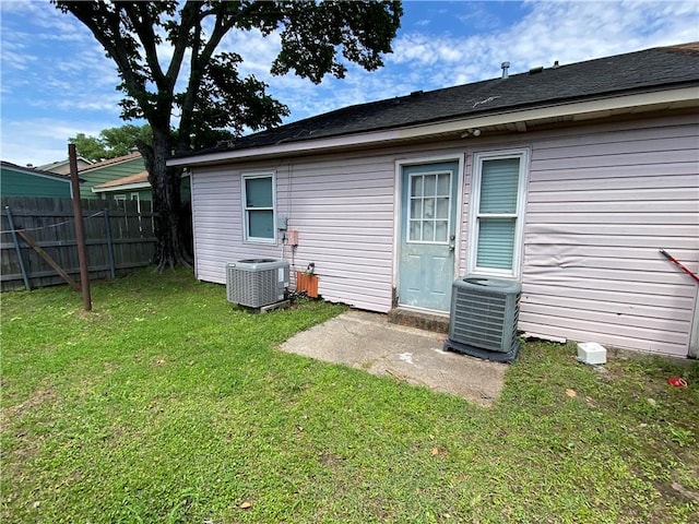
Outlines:
<svg viewBox="0 0 699 524"><path fill-rule="evenodd" d="M350 68L320 85L271 76L279 41L229 34L244 73L270 85L298 120L351 104L493 79L655 46L699 40L696 1L406 1L386 67ZM163 49L167 52L167 49ZM48 0L0 0L0 158L35 166L66 158L68 138L125 122L112 63L92 34ZM135 122L142 123L142 122Z"/></svg>

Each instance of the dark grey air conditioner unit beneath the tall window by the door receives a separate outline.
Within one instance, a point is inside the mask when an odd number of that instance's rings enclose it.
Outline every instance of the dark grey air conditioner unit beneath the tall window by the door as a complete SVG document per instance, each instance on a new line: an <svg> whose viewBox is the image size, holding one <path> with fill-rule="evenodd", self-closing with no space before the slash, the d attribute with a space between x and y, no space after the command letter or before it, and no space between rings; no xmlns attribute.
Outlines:
<svg viewBox="0 0 699 524"><path fill-rule="evenodd" d="M522 286L500 278L459 278L451 289L445 350L511 362L520 352L517 321Z"/></svg>

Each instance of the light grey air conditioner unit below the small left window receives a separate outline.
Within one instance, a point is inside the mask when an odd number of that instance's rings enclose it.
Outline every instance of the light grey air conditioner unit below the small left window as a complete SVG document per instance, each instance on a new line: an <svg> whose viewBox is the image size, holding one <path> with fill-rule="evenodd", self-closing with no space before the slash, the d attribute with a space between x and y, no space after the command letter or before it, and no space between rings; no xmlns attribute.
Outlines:
<svg viewBox="0 0 699 524"><path fill-rule="evenodd" d="M229 302L262 308L284 300L288 287L288 262L249 259L226 265L226 296Z"/></svg>

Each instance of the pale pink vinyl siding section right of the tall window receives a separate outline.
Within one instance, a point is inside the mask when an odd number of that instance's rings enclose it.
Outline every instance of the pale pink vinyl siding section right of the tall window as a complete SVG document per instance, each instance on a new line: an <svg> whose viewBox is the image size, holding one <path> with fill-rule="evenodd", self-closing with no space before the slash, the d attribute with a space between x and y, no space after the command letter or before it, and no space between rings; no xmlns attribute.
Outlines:
<svg viewBox="0 0 699 524"><path fill-rule="evenodd" d="M687 355L697 271L696 117L582 128L536 141L520 329Z"/></svg>

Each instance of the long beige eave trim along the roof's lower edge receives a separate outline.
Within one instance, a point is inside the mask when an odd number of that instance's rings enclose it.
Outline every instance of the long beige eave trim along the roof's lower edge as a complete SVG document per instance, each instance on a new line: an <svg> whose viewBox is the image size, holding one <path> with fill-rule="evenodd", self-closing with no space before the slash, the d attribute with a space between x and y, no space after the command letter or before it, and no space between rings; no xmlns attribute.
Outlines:
<svg viewBox="0 0 699 524"><path fill-rule="evenodd" d="M427 139L445 133L459 133L467 129L489 126L536 122L567 117L576 120L590 120L623 112L643 112L667 107L691 107L699 105L699 91L696 85L663 88L641 93L616 94L583 100L538 105L517 110L494 111L472 117L462 117L440 122L406 126L389 130L344 134L330 138L310 139L258 147L194 154L170 158L168 166L202 166L224 164L232 160L254 160L280 157L292 154L323 153L348 147L367 147L382 142Z"/></svg>

